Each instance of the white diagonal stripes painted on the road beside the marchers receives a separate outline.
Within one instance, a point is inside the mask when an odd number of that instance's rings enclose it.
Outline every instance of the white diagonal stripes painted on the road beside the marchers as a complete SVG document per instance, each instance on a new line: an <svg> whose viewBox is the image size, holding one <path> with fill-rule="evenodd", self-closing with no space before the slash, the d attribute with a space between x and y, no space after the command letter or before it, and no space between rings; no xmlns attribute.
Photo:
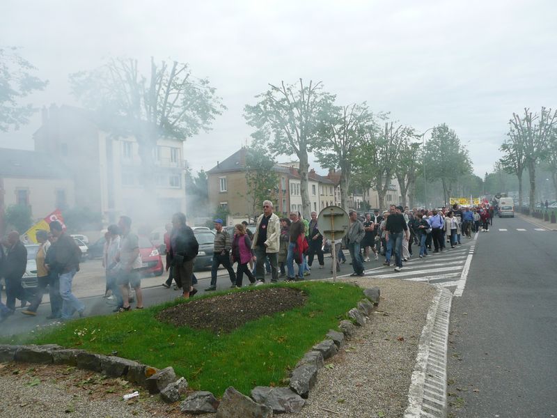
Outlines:
<svg viewBox="0 0 557 418"><path fill-rule="evenodd" d="M449 290L457 290L464 287L466 272L476 241L472 240L463 245L457 245L455 249L445 249L440 253L432 253L430 256L418 258L414 256L403 263L402 271L393 271L393 266L383 266L366 270L366 276L374 279L402 279L408 281L423 281L429 284L437 284ZM417 254L417 249L414 250ZM455 288L455 289L451 289Z"/></svg>

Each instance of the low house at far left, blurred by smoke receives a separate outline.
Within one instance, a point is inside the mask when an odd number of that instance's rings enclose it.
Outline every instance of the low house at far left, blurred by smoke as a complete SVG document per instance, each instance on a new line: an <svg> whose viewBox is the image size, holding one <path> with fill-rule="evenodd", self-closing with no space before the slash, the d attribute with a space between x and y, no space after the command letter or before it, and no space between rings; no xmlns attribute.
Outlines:
<svg viewBox="0 0 557 418"><path fill-rule="evenodd" d="M0 148L0 217L13 205L26 206L32 219L75 203L72 173L47 153ZM0 219L0 232L5 226ZM24 231L20 231L24 232Z"/></svg>

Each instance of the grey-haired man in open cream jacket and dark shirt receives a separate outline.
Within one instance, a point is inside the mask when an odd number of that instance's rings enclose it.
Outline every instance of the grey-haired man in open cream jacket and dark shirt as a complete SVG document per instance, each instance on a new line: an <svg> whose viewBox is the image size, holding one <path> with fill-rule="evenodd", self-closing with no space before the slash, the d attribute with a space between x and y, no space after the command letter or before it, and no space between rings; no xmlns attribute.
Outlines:
<svg viewBox="0 0 557 418"><path fill-rule="evenodd" d="M271 281L278 281L278 248L280 247L281 221L273 213L273 203L263 202L263 213L257 219L251 248L256 253L256 279L265 282L265 258L271 264Z"/></svg>

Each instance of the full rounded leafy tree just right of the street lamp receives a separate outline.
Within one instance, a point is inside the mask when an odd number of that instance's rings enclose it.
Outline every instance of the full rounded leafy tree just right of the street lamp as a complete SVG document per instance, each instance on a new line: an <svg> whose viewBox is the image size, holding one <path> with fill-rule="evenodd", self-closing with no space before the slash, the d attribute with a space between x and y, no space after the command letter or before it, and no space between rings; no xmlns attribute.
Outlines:
<svg viewBox="0 0 557 418"><path fill-rule="evenodd" d="M456 132L444 123L432 130L431 140L425 147L425 164L427 177L441 180L444 204L449 200L453 183L472 171L468 150L460 144Z"/></svg>

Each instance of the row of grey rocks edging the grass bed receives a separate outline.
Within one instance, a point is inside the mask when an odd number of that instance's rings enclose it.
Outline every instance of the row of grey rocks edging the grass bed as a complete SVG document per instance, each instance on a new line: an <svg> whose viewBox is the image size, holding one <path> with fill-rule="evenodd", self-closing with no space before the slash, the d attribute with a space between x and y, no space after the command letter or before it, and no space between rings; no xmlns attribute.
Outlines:
<svg viewBox="0 0 557 418"><path fill-rule="evenodd" d="M196 391L182 401L180 410L194 415L217 412L217 417L227 418L272 417L273 413L300 412L317 381L317 371L324 367L324 360L336 355L347 339L352 338L356 328L354 324L366 324L379 304L381 291L375 286L364 289L363 295L365 297L357 306L347 312L348 318L352 320L340 320L340 332L329 330L323 341L304 354L290 373L288 387L254 387L251 397L237 392L234 387L228 387L221 401L211 392ZM166 403L180 401L188 386L185 378L176 376L172 367L159 370L123 357L93 354L56 344L0 344L0 362L68 364L113 378L125 378L147 389L150 394L160 394Z"/></svg>

